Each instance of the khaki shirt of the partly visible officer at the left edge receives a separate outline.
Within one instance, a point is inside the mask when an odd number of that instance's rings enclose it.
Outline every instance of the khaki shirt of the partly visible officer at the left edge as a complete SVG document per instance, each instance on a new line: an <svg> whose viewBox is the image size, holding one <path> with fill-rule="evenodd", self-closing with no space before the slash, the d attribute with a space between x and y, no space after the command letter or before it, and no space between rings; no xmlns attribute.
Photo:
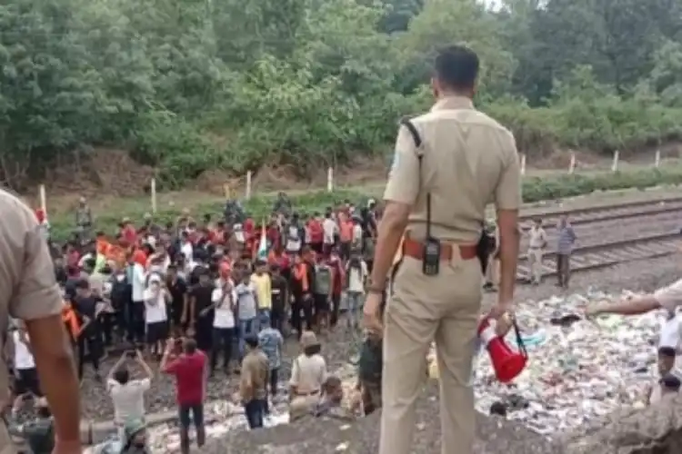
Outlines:
<svg viewBox="0 0 682 454"><path fill-rule="evenodd" d="M0 350L8 316L30 321L59 315L62 298L55 267L34 212L15 195L0 190ZM9 399L5 360L0 359L0 405ZM0 427L0 454L15 452L6 428Z"/></svg>

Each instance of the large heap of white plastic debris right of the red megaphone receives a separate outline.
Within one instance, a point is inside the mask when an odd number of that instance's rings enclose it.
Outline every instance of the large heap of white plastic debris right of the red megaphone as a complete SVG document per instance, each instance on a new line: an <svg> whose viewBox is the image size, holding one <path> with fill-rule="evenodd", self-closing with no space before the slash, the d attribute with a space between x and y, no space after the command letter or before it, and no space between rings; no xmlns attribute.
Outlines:
<svg viewBox="0 0 682 454"><path fill-rule="evenodd" d="M495 379L486 351L481 351L475 375L476 409L489 414L494 402L521 398L521 405L507 410L507 418L523 421L540 434L557 436L605 420L614 412L644 407L647 389L657 377L662 311L635 317L607 315L570 326L550 323L552 318L580 314L588 305L627 296L632 293L588 291L518 304L527 368L512 384L503 385ZM515 345L511 334L507 341Z"/></svg>

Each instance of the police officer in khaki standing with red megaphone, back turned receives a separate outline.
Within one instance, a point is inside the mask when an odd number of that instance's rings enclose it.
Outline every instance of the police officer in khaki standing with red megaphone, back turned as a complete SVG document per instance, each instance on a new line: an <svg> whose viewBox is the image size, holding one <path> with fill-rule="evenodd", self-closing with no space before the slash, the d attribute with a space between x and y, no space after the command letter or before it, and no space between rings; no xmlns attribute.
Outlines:
<svg viewBox="0 0 682 454"><path fill-rule="evenodd" d="M466 47L438 54L436 104L403 122L398 133L365 306L366 328L384 335L379 454L415 452L415 402L432 341L440 370L441 452L472 453L470 378L482 298L476 244L488 202L496 204L501 259L498 302L490 316L498 333L509 329L521 176L512 134L472 104L478 65ZM402 259L392 271L382 321L380 295L401 236Z"/></svg>

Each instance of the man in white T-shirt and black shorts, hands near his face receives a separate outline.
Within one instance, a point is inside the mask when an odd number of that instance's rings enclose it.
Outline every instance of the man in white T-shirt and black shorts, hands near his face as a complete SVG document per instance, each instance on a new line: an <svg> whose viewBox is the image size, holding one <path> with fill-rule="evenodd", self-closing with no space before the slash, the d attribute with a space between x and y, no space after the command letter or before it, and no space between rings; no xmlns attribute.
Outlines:
<svg viewBox="0 0 682 454"><path fill-rule="evenodd" d="M168 338L168 313L165 309L170 296L161 284L161 278L153 274L149 287L145 289L146 343L152 354L161 359Z"/></svg>

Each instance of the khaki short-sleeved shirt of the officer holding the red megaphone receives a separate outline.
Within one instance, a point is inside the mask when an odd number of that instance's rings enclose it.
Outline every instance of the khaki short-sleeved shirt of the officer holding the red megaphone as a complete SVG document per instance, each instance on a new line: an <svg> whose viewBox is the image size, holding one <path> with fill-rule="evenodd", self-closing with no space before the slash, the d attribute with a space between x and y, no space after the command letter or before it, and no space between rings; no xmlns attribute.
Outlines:
<svg viewBox="0 0 682 454"><path fill-rule="evenodd" d="M481 235L486 204L517 210L522 202L521 171L514 136L476 111L471 100L448 97L412 120L423 146L401 126L384 199L412 207L407 231L426 236L426 192L431 192L431 234L475 244ZM419 173L418 153L423 153Z"/></svg>

